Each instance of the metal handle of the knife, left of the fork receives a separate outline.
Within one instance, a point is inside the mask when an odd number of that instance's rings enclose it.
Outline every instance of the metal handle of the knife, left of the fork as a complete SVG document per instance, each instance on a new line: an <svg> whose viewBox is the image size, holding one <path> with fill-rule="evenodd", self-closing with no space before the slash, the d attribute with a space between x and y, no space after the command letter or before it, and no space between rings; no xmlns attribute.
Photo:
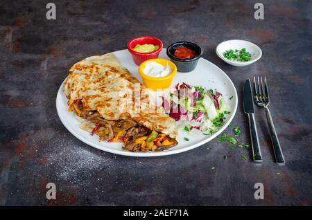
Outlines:
<svg viewBox="0 0 312 220"><path fill-rule="evenodd" d="M256 122L254 120L254 114L248 113L248 122L249 122L249 128L250 128L250 137L252 141L252 156L254 159L254 162L262 162L262 155L259 145L259 138L258 138L258 131L256 127Z"/></svg>

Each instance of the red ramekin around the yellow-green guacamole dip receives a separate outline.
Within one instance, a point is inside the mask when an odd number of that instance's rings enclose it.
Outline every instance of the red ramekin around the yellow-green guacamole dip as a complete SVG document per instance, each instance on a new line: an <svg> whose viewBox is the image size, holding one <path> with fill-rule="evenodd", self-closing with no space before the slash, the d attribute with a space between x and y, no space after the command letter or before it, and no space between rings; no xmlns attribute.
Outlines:
<svg viewBox="0 0 312 220"><path fill-rule="evenodd" d="M157 51L153 51L151 53L139 53L137 51L133 51L132 48L134 48L137 44L154 44L158 45L159 48ZM164 44L162 44L162 41L156 37L150 37L150 36L141 36L141 37L135 37L133 39L130 39L130 41L127 44L128 51L131 53L133 61L135 64L139 65L142 62L146 61L147 59L154 59L158 58L160 51L162 51Z"/></svg>

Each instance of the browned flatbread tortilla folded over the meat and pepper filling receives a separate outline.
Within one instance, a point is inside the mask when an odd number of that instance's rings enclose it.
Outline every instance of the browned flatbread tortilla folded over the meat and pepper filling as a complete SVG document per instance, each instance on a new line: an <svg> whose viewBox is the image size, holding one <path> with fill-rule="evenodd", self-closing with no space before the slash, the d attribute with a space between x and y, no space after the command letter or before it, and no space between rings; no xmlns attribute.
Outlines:
<svg viewBox="0 0 312 220"><path fill-rule="evenodd" d="M105 120L133 119L148 129L177 138L175 120L162 107L156 107L148 89L119 64L113 53L87 57L74 64L64 93L70 100L81 100L83 111L98 111ZM90 123L83 122L82 127L90 130L94 126Z"/></svg>

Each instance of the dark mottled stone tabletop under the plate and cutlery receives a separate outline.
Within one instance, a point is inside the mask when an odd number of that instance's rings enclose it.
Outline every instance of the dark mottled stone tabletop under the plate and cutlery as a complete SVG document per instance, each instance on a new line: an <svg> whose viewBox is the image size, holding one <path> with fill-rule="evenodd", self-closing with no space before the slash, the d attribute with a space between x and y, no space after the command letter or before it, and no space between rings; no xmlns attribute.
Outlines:
<svg viewBox="0 0 312 220"><path fill-rule="evenodd" d="M253 17L257 1L53 1L55 21L45 18L48 2L0 3L0 205L311 205L311 1L261 1L262 21ZM164 46L178 40L202 46L203 57L239 92L232 124L242 128L242 142L250 141L243 81L266 75L286 165L274 162L259 108L262 165L250 152L216 140L173 156L130 158L72 136L55 109L67 70L84 57L121 50L139 35L159 37ZM229 66L214 53L227 39L250 40L263 57ZM45 197L49 182L58 189L55 201ZM258 182L264 200L254 199Z"/></svg>

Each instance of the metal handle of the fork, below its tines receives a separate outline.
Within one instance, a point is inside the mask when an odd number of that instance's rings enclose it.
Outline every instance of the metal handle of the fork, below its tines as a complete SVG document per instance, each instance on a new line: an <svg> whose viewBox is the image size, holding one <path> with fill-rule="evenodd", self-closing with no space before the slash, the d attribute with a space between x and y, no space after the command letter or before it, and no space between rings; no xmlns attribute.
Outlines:
<svg viewBox="0 0 312 220"><path fill-rule="evenodd" d="M283 152L281 152L281 145L279 144L279 138L277 138L277 133L273 124L273 120L270 114L270 110L266 107L266 118L268 119L268 125L270 127L270 136L272 140L273 150L275 154L276 163L278 165L284 165L285 159Z"/></svg>

